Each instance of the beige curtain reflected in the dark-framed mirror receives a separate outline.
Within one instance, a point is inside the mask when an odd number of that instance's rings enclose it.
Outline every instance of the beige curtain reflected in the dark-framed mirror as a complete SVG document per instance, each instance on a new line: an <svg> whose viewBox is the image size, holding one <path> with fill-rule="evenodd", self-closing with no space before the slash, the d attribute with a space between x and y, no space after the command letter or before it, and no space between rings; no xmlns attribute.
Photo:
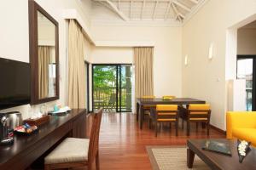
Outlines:
<svg viewBox="0 0 256 170"><path fill-rule="evenodd" d="M49 92L49 62L50 47L38 47L38 97L44 99L48 97Z"/></svg>

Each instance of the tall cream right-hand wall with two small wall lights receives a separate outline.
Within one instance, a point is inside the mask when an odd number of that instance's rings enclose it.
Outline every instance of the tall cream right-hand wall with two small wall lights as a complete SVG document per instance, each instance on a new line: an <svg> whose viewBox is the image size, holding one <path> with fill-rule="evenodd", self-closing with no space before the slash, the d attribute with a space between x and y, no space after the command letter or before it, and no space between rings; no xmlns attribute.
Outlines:
<svg viewBox="0 0 256 170"><path fill-rule="evenodd" d="M234 66L230 66L230 70L225 66L226 54L229 54L226 50L230 50L230 46L226 46L226 37L229 37L230 27L255 11L254 0L209 0L183 26L183 57L189 55L189 65L183 65L183 96L206 99L212 105L211 123L221 129L225 129L226 72L236 75ZM211 42L215 54L209 60ZM236 59L230 61L227 65L236 65Z"/></svg>

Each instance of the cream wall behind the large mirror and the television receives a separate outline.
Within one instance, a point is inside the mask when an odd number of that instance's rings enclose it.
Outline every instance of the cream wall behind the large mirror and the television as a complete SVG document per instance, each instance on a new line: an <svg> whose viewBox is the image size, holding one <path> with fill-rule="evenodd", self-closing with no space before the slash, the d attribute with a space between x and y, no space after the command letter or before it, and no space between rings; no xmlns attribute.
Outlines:
<svg viewBox="0 0 256 170"><path fill-rule="evenodd" d="M90 23L86 14L83 12L84 4L90 8L90 2L79 3L74 0L37 0L50 15L59 23L59 54L60 54L60 100L50 102L52 106L55 103L66 105L67 96L67 23L62 19L62 11L65 8L75 8L82 16L84 22ZM29 62L29 28L28 28L28 1L27 0L9 0L3 1L0 5L0 57ZM29 112L39 111L40 105L23 105L11 108L5 111L20 111L23 118L28 118Z"/></svg>

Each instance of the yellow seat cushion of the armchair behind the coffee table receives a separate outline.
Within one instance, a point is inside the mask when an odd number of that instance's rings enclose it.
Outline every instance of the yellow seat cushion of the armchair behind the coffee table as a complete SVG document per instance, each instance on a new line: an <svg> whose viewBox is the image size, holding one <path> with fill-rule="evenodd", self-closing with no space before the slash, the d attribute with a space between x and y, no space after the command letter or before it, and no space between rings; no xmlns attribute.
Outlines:
<svg viewBox="0 0 256 170"><path fill-rule="evenodd" d="M243 139L256 145L256 128L233 128L233 136L237 139Z"/></svg>

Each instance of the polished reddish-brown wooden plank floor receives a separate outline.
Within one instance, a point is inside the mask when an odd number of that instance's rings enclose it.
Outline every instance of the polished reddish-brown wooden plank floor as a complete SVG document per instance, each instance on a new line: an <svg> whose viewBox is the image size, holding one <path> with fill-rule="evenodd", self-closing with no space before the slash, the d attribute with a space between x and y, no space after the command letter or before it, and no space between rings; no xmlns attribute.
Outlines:
<svg viewBox="0 0 256 170"><path fill-rule="evenodd" d="M88 119L90 126L91 120ZM151 169L146 151L147 145L185 145L187 139L207 138L206 129L201 126L196 130L191 127L190 137L186 136L185 128L179 126L179 135L175 136L174 124L163 126L157 138L154 130L148 129L148 121L140 130L136 115L131 113L105 113L102 116L100 133L100 164L101 170L148 170ZM90 127L89 127L90 128ZM224 138L224 134L211 129L210 138Z"/></svg>

